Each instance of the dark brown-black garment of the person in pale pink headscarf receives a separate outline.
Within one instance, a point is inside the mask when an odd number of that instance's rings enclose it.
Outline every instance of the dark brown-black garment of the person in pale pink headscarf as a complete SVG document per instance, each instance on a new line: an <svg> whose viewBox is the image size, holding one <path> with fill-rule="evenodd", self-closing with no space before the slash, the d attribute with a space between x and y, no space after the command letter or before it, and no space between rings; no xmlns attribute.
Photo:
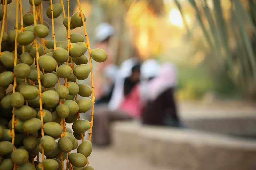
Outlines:
<svg viewBox="0 0 256 170"><path fill-rule="evenodd" d="M143 123L150 125L179 126L173 88L162 92L155 100L148 101L143 110Z"/></svg>

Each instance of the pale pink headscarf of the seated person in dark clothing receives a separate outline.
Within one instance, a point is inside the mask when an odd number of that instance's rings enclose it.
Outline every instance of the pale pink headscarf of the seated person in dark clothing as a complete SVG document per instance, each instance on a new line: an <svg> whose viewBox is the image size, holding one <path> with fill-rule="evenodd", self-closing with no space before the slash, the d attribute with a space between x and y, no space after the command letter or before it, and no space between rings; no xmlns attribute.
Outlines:
<svg viewBox="0 0 256 170"><path fill-rule="evenodd" d="M161 65L157 75L147 86L147 99L154 100L162 92L170 87L177 85L176 66L173 63L164 63Z"/></svg>

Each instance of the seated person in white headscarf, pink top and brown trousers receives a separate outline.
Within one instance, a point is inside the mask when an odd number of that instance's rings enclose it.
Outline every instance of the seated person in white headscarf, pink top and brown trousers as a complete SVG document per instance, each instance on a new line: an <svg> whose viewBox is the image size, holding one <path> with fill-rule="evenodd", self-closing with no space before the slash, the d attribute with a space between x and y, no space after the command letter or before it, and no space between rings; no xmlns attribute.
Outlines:
<svg viewBox="0 0 256 170"><path fill-rule="evenodd" d="M95 107L92 143L110 143L110 123L141 117L140 64L137 58L124 61L118 71L108 107Z"/></svg>

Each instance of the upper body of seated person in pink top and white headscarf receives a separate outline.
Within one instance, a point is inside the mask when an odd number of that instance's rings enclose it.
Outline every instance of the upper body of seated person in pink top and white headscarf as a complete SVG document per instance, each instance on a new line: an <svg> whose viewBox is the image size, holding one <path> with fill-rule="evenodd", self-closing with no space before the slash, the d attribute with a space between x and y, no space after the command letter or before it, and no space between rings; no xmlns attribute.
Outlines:
<svg viewBox="0 0 256 170"><path fill-rule="evenodd" d="M140 99L141 93L139 63L140 61L137 57L132 57L130 59L125 60L121 64L120 70L116 77L113 94L108 103L108 108L110 110L126 111L129 115L131 115L134 118L138 118L141 116L142 106ZM138 96L134 97L135 95ZM132 100L131 96L136 98L136 100ZM132 105L133 101L136 101L134 105Z"/></svg>

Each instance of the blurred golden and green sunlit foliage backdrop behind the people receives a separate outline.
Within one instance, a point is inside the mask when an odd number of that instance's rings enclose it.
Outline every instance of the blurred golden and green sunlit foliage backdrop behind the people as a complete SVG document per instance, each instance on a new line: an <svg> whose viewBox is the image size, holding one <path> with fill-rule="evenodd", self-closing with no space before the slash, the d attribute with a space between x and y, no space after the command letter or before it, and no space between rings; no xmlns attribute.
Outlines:
<svg viewBox="0 0 256 170"><path fill-rule="evenodd" d="M202 99L209 93L221 98L255 97L255 1L81 0L81 6L92 47L98 24L114 26L110 46L115 64L133 56L175 63L179 99ZM70 9L79 11L76 3ZM14 13L9 11L7 18L14 27ZM67 39L62 21L62 17L54 20L57 41ZM81 27L74 32L84 31Z"/></svg>

